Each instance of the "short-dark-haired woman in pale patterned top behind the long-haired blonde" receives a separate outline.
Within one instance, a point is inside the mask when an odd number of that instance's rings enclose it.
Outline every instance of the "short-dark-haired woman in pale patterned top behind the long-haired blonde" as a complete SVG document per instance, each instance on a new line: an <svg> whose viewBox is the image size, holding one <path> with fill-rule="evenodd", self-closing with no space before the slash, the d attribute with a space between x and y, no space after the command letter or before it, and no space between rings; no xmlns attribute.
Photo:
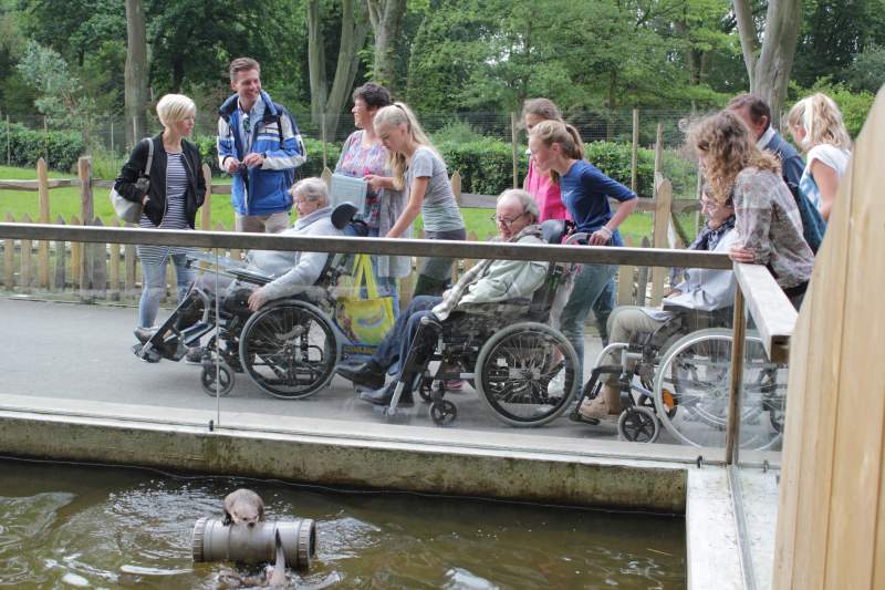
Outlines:
<svg viewBox="0 0 885 590"><path fill-rule="evenodd" d="M356 131L347 137L341 149L335 173L363 178L368 184L366 205L362 218L371 237L386 236L405 207L405 196L393 186L387 166L387 149L375 133L373 118L383 106L393 104L391 93L378 84L364 84L353 91L354 124ZM412 228L404 237L408 238ZM399 313L399 292L396 279L412 271L407 256L373 256L372 268L378 278L384 297L393 297L394 313Z"/></svg>

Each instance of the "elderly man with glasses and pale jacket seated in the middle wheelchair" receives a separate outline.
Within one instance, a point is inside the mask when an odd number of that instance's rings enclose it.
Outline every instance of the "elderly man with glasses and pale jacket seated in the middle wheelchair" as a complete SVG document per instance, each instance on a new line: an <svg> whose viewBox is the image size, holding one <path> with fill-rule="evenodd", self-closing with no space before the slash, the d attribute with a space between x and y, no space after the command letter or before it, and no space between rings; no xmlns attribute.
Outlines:
<svg viewBox="0 0 885 590"><path fill-rule="evenodd" d="M538 204L531 195L520 189L504 190L498 197L492 216L498 226L498 237L493 241L544 244L538 216ZM368 362L353 369L341 366L337 373L354 385L377 390L364 391L361 400L386 405L397 380L384 387L385 375L397 362L405 361L421 318L433 317L442 321L455 311L469 313L471 306L531 299L544 282L546 270L548 263L538 260L480 260L442 297L418 296L413 299ZM404 392L399 403L410 404L412 393Z"/></svg>

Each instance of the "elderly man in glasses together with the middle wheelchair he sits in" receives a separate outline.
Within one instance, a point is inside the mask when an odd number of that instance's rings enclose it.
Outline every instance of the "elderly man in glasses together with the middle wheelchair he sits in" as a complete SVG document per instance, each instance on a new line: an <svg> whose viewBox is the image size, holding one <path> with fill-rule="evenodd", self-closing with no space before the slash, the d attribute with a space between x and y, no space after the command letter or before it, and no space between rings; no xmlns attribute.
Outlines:
<svg viewBox="0 0 885 590"><path fill-rule="evenodd" d="M498 240L560 244L562 221L542 228L537 220L538 205L528 193L511 189L498 198ZM576 365L565 338L544 323L551 300L564 291L559 289L562 282L563 268L556 265L479 261L442 297L415 298L365 364L339 368L337 373L366 387L360 397L387 406L388 414L397 405L413 405L417 390L431 402L434 422L447 424L456 408L442 400L446 383L466 379L506 422L529 425L552 420L551 411L561 412L572 392ZM396 377L385 385L392 369ZM548 389L556 375L568 383L560 385L553 400Z"/></svg>

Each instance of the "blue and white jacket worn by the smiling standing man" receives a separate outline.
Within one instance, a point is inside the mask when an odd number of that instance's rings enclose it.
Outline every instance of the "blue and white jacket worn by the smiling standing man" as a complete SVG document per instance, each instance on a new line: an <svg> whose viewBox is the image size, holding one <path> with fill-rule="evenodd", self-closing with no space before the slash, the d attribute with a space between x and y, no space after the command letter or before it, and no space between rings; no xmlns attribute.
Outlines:
<svg viewBox="0 0 885 590"><path fill-rule="evenodd" d="M218 165L223 170L227 158L242 162L247 154L256 153L264 156L264 164L233 174L231 205L240 215L289 211L295 168L308 159L295 120L261 91L261 100L252 107L251 146L247 152L239 133L241 113L237 104L235 94L218 110Z"/></svg>

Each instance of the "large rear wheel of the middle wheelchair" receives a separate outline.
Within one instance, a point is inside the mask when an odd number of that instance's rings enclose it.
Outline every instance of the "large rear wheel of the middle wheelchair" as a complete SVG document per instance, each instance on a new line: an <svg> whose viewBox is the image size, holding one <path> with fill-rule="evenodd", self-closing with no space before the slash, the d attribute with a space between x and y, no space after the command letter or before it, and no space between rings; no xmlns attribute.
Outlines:
<svg viewBox="0 0 885 590"><path fill-rule="evenodd" d="M555 420L579 389L577 354L560 332L538 322L509 325L480 349L479 398L513 426Z"/></svg>

